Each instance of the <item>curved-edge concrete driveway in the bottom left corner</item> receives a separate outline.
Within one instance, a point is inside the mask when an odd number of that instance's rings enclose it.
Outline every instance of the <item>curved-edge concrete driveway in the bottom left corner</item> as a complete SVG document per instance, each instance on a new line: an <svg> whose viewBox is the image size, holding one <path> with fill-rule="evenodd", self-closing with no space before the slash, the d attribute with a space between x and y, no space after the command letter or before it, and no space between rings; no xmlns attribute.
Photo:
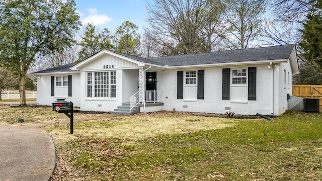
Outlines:
<svg viewBox="0 0 322 181"><path fill-rule="evenodd" d="M0 124L0 181L48 180L55 148L41 128Z"/></svg>

